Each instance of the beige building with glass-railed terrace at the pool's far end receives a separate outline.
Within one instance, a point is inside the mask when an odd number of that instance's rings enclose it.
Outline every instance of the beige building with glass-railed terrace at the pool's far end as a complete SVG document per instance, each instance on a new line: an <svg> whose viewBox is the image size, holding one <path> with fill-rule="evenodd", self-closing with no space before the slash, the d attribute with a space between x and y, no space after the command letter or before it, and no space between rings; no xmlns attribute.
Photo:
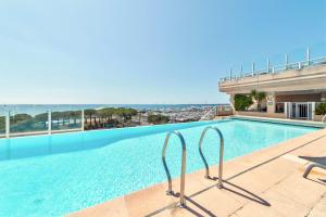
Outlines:
<svg viewBox="0 0 326 217"><path fill-rule="evenodd" d="M308 49L305 60L289 63L288 55L280 65L267 60L264 69L240 73L222 78L220 91L230 95L234 105L236 94L249 94L252 90L265 92L264 112L254 108L236 111L240 115L321 120L316 107L326 102L326 49L322 55L311 58Z"/></svg>

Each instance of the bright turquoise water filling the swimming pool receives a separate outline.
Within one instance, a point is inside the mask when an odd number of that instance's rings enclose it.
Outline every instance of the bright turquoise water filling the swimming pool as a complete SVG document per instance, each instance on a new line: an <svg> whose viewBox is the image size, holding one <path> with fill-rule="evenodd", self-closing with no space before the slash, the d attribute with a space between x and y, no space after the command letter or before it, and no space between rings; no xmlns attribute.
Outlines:
<svg viewBox="0 0 326 217"><path fill-rule="evenodd" d="M225 159L317 129L230 119L1 139L0 216L64 215L166 181L161 154L171 130L179 130L187 142L187 173L201 169L198 142L208 125L222 130ZM209 131L203 143L209 164L217 163L217 136ZM177 138L166 152L176 177Z"/></svg>

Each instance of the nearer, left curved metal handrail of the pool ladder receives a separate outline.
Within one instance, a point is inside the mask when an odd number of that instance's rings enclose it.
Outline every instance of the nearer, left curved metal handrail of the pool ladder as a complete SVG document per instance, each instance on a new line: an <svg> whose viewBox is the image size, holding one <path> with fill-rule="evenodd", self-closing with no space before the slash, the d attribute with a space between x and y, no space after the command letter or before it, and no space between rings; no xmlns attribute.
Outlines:
<svg viewBox="0 0 326 217"><path fill-rule="evenodd" d="M174 192L172 191L172 180L171 180L171 175L166 165L166 161L165 161L165 151L166 151L166 146L168 143L168 140L171 138L172 135L176 135L183 145L183 162L181 162L181 180L180 180L180 203L179 203L179 207L185 207L186 206L186 199L185 199L185 174L186 174L186 142L185 139L183 137L183 135L178 131L171 131L166 135L165 141L164 141L164 146L163 146L163 151L162 151L162 162L163 162L163 166L167 176L167 180L168 180L168 189L166 191L167 195L173 195Z"/></svg>

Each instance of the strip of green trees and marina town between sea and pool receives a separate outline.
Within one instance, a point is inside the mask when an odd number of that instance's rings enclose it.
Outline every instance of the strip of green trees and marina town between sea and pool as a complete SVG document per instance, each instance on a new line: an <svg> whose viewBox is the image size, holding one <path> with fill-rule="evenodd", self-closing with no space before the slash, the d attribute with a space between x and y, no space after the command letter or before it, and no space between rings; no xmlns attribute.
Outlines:
<svg viewBox="0 0 326 217"><path fill-rule="evenodd" d="M45 131L92 130L147 125L197 122L216 105L163 106L151 108L91 107L61 111L17 112L8 110L0 115L0 137L4 135L39 133ZM84 123L83 123L84 118ZM49 123L51 125L49 126Z"/></svg>

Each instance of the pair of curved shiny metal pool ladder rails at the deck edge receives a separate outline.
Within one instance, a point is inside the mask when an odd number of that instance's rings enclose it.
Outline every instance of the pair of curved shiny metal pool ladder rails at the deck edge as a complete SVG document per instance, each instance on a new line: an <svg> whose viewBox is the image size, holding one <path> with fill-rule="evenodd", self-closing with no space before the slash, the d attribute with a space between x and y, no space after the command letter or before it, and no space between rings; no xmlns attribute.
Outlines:
<svg viewBox="0 0 326 217"><path fill-rule="evenodd" d="M210 177L210 169L209 169L209 164L208 162L205 161L205 157L203 156L203 153L202 153L202 142L203 142L203 139L206 135L206 131L209 129L213 129L215 130L218 136L220 136L220 168L218 168L218 183L217 183L217 187L221 189L223 187L223 179L222 179L222 176L223 176L223 155L224 155L224 138L223 138L223 135L221 132L221 130L217 128L217 127L206 127L203 132L201 133L201 137L200 137L200 141L199 141L199 153L200 153L200 156L205 165L205 178L208 179L212 179ZM163 146L163 151L162 151L162 162L163 162L163 166L164 166L164 170L166 173L166 177L167 177L167 181L168 181L168 187L167 187L167 191L166 191L166 194L167 195L176 195L173 190L172 190L172 178L171 178L171 174L170 174L170 170L168 170L168 167L167 167L167 164L166 164L166 161L165 161L165 152L166 152L166 148L167 148L167 144L168 144L168 140L171 138L172 135L176 135L181 143L181 146L183 146L183 157L181 157L181 175L180 175L180 202L178 204L178 206L180 208L185 207L186 206L186 197L185 197L185 182L186 182L186 154L187 154L187 146L186 146L186 142L185 142L185 139L183 137L183 135L179 132L179 131L171 131L166 135L165 137L165 141L164 141L164 146Z"/></svg>

